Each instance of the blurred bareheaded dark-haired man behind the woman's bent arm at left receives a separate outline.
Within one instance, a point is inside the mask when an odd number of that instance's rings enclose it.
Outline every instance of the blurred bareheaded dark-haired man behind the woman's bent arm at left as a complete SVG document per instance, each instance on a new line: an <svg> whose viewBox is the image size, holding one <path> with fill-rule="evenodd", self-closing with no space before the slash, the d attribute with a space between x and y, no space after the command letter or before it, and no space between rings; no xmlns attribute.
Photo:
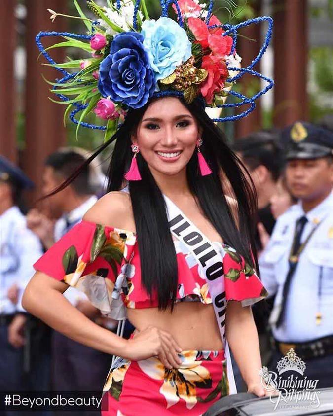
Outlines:
<svg viewBox="0 0 333 416"><path fill-rule="evenodd" d="M88 157L87 151L78 148L62 148L49 155L43 173L43 195L57 189ZM92 169L93 166L85 166L68 187L45 200L52 217L58 218L55 224L36 209L28 213L28 226L40 238L45 250L80 222L97 201L95 194L100 192L101 180L93 181L96 172ZM69 287L64 296L90 319L100 318L100 312L84 293ZM56 331L52 337L52 361L52 385L59 391L99 391L111 364L110 355Z"/></svg>

